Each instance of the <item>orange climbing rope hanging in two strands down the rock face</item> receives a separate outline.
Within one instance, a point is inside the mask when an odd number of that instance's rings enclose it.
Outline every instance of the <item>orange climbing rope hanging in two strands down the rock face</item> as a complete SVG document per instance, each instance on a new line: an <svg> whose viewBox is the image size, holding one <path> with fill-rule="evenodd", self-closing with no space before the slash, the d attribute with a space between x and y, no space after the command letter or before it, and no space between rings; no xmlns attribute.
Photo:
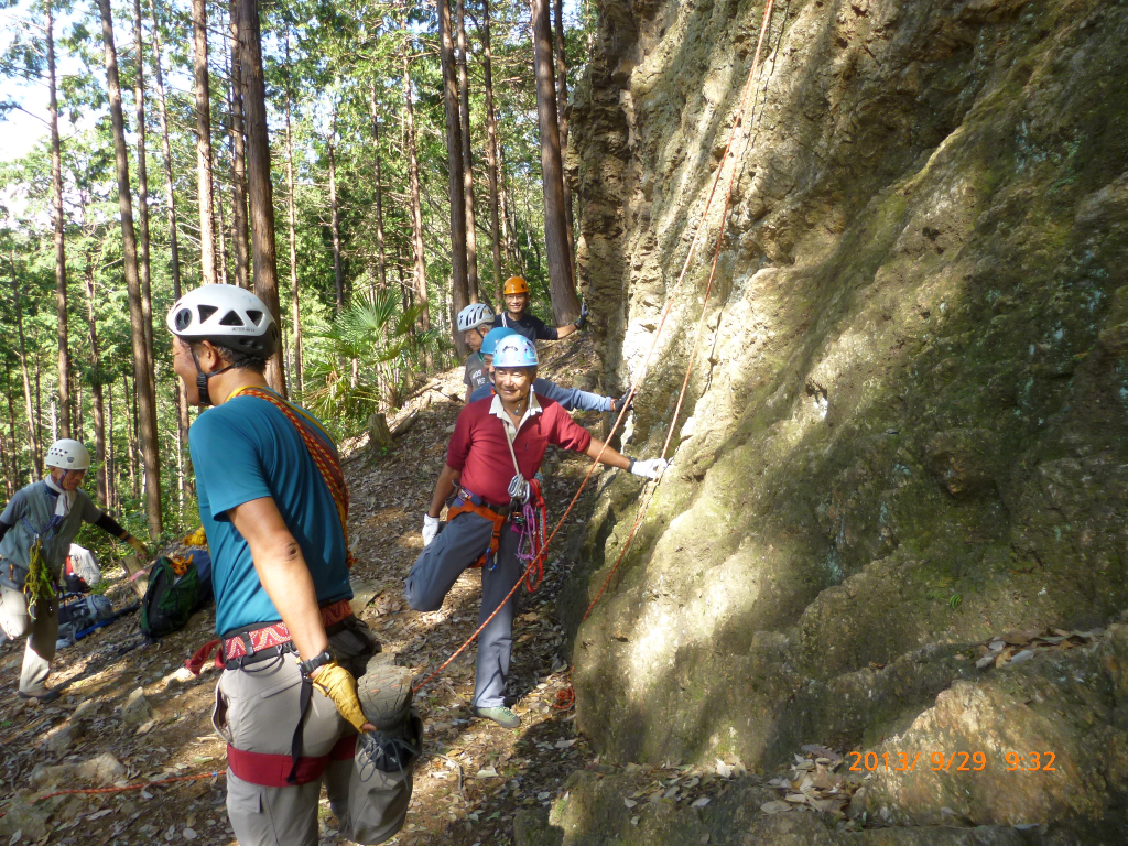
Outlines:
<svg viewBox="0 0 1128 846"><path fill-rule="evenodd" d="M767 3L764 7L764 20L760 24L760 35L759 35L759 39L756 43L756 55L752 59L752 67L751 67L751 70L749 71L749 73L748 73L748 81L746 82L744 90L741 94L740 107L739 107L739 109L737 112L735 120L733 121L732 134L729 136L729 142L725 146L725 148L724 148L724 156L721 158L721 165L717 167L717 169L716 169L716 176L714 176L714 178L713 178L713 185L710 188L708 199L705 201L705 209L702 212L702 218L700 218L700 222L698 223L698 228L694 232L694 239L689 244L689 252L686 254L686 261L682 263L682 265L681 265L681 272L678 274L678 279L677 279L677 281L673 284L675 289L679 288L680 284L681 284L681 282L685 280L686 273L689 271L689 265L690 265L690 262L693 261L694 253L697 249L697 245L702 240L702 236L707 232L708 213L710 213L710 209L713 205L713 199L716 195L716 187L717 187L717 185L721 182L721 175L724 173L725 164L730 160L730 153L732 152L733 141L735 141L738 136L741 136L743 143L741 146L740 159L737 160L737 157L732 157L733 167L732 167L732 171L731 171L731 174L729 176L729 185L728 185L728 193L725 195L724 211L723 211L723 214L722 214L722 218L721 218L721 230L717 233L716 250L714 252L714 255L713 255L713 266L712 266L712 270L710 271L708 283L707 283L707 287L706 287L706 290L705 290L705 301L702 305L702 316L700 316L700 318L698 319L698 323L697 323L697 334L696 334L696 337L694 338L693 352L691 352L690 358L689 358L689 364L688 364L688 369L686 371L686 378L685 378L685 381L682 382L682 386L681 386L681 394L678 396L677 408L675 409L673 418L670 421L670 431L667 434L666 443L662 446L662 458L666 458L666 453L667 453L667 451L669 449L669 446L670 446L670 440L671 440L671 438L673 435L673 429L675 429L675 426L677 425L677 422L678 422L678 414L681 411L681 405L682 405L682 402L685 400L686 390L687 390L687 388L689 386L689 374L693 371L694 358L696 356L697 345L698 345L698 342L700 341L702 331L704 328L705 312L706 312L706 308L708 306L710 293L713 290L713 281L714 281L714 279L716 276L717 261L719 261L719 257L720 257L720 254L721 254L721 244L723 243L724 232L725 232L726 224L728 224L729 208L730 208L730 204L731 204L731 201L732 201L732 187L733 187L733 184L735 183L737 174L739 174L740 170L741 170L741 165L743 162L743 155L744 155L744 152L747 152L748 133L747 132L741 133L740 130L744 127L744 114L747 112L747 105L748 105L748 102L749 102L749 96L751 95L751 92L752 92L752 90L755 88L756 76L757 76L757 72L759 70L760 54L761 54L761 50L763 50L763 46L764 46L764 38L765 38L766 34L767 34L768 26L769 26L770 20L772 20L772 8L773 8L773 6L774 6L774 0L767 0ZM591 479L592 474L596 472L596 467L599 466L599 460L600 460L600 458L602 458L603 449L607 448L607 442L611 440L611 438L615 435L615 432L618 430L619 425L622 425L623 420L626 416L626 409L631 406L631 399L634 398L634 396L637 394L638 386L642 384L643 379L646 377L646 372L647 372L647 369L650 367L651 356L653 355L654 350L658 347L659 338L662 335L662 328L666 326L666 320L667 320L667 318L670 315L670 309L671 309L672 306L673 306L673 298L670 297L670 298L667 299L666 306L662 309L661 316L660 316L659 321L658 321L658 326L654 329L654 337L653 337L653 340L650 343L650 347L646 350L646 356L643 359L642 367L640 368L638 373L635 376L634 380L631 384L631 390L627 393L627 399L626 399L626 402L623 403L623 409L619 412L618 416L615 418L615 423L611 425L611 430L608 433L607 439L603 442L603 447L596 455L596 458L591 462L591 467L588 468L587 475L583 477L583 481L580 483L580 487L576 490L575 495L572 497L572 501L569 503L567 508L564 509L564 513L561 515L561 519L556 523L556 527L553 529L552 534L548 536L548 539L541 546L540 552L532 558L532 561L529 562L528 566L525 570L525 573L517 581L517 583L509 591L509 593L505 594L505 598L502 599L502 601L493 610L493 614L491 614L488 617L486 617L486 619L482 623L482 625L479 625L470 634L470 636L466 638L466 642L462 643L462 645L459 646L457 650L455 650L455 652L450 655L450 658L448 658L446 661L443 661L434 670L434 672L432 672L430 676L428 676L422 681L420 681L413 688L414 693L418 693L424 687L426 687L426 685L429 685L432 680L434 680L435 677L438 677L443 670L446 670L456 658L458 658L462 652L465 652L466 649L472 643L474 643L474 641L477 638L477 636L479 634L482 634L482 631L487 625L490 625L490 622L494 617L497 616L497 613L502 608L505 607L505 603L510 599L512 599L513 593L515 593L517 589L526 581L526 579L528 578L528 575L532 571L532 569L535 566L537 566L537 565L543 565L543 562L544 562L545 555L546 555L546 553L548 550L548 547L552 545L553 539L556 537L557 532L559 532L561 528L563 528L564 522L567 520L569 514L572 513L572 509L575 506L575 503L580 500L580 494L583 493L584 488L588 485L588 482ZM626 543L623 546L623 550L619 553L619 556L616 559L615 565L611 567L611 572L608 574L607 580L603 582L603 585L600 588L599 593L592 600L591 605L588 606L588 610L584 611L584 615L583 615L583 619L584 620L588 619L588 615L591 614L591 609L594 607L596 602L598 602L599 599L600 599L600 597L603 596L603 591L607 590L607 585L610 583L611 576L615 575L615 571L618 569L619 564L623 562L623 558L626 556L626 553L627 553L627 550L631 547L631 543L632 543L632 540L634 540L634 536L637 532L638 527L642 525L643 518L645 517L646 509L649 508L650 501L653 497L653 492L656 488L658 488L658 483L655 483L653 486L647 486L647 491L643 495L643 502L640 505L638 513L635 517L634 525L631 528L631 534L627 536L627 540L626 540Z"/></svg>

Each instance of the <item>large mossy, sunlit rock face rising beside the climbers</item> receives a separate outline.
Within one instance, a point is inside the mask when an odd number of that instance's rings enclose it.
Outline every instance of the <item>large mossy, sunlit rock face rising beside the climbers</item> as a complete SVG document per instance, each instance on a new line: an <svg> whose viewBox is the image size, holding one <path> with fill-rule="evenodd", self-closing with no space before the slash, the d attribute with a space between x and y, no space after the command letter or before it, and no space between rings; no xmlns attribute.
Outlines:
<svg viewBox="0 0 1128 846"><path fill-rule="evenodd" d="M953 708L989 722L1002 702L960 644L1128 608L1128 3L777 3L671 421L715 212L678 272L763 11L605 0L575 92L605 388L637 374L673 300L627 449L656 455L672 425L675 464L580 625L638 503L636 478L606 487L565 602L579 723L609 760L941 742ZM897 784L864 801L932 821L950 800ZM1040 813L1123 790L1078 784L1037 788ZM960 812L1008 823L981 802Z"/></svg>

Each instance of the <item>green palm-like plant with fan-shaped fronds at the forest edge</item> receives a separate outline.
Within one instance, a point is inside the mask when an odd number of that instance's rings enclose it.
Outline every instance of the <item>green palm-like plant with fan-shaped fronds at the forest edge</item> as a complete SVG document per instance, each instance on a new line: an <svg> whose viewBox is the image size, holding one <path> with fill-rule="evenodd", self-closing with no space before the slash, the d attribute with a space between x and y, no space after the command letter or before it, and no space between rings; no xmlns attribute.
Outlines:
<svg viewBox="0 0 1128 846"><path fill-rule="evenodd" d="M398 291L389 288L352 302L327 331L311 333L303 405L342 435L394 407L428 356L443 349L438 331L416 326L421 312L421 306L402 308Z"/></svg>

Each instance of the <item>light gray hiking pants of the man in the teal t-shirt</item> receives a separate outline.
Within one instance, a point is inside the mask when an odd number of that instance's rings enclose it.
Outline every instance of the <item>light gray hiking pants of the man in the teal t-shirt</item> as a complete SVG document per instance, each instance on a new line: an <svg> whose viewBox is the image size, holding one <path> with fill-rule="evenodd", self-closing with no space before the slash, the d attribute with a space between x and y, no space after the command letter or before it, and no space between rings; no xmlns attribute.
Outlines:
<svg viewBox="0 0 1128 846"><path fill-rule="evenodd" d="M355 632L329 637L337 661L363 675L372 644ZM292 652L246 669L228 669L215 688L212 723L236 750L285 756L298 724L301 671ZM341 834L360 844L382 843L403 827L412 797L412 769L384 773L367 761L360 744L352 756L331 755L356 730L332 699L314 690L302 731L302 757L331 756L319 778L282 787L244 781L227 772L227 813L240 846L316 846L317 808L325 784ZM231 751L228 757L231 757ZM288 761L282 761L285 765ZM283 770L289 770L283 766Z"/></svg>

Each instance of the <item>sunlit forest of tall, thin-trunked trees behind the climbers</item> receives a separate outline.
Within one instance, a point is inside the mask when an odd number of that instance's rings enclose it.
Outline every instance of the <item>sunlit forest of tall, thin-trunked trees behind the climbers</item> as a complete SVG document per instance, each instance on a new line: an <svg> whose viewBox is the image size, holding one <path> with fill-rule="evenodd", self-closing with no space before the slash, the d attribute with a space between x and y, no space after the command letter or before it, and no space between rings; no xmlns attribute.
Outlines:
<svg viewBox="0 0 1128 846"><path fill-rule="evenodd" d="M133 529L194 521L196 409L164 319L200 284L276 309L271 384L338 438L455 363L458 308L497 308L505 277L546 320L576 316L558 171L587 0L19 0L0 16L0 117L41 130L28 147L8 124L0 144L9 497L72 437Z"/></svg>

